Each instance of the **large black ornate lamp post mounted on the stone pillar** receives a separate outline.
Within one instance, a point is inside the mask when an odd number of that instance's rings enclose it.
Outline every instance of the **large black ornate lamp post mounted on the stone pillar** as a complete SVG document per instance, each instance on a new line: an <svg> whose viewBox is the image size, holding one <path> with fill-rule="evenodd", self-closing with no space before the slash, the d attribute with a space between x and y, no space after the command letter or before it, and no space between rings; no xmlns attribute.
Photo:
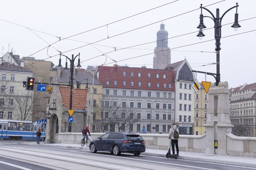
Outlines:
<svg viewBox="0 0 256 170"><path fill-rule="evenodd" d="M241 27L239 24L238 24L238 13L237 13L237 7L239 5L237 5L238 3L236 3L236 6L233 6L232 8L228 9L226 12L224 12L224 14L219 17L219 8L216 9L216 17L213 15L213 13L208 10L207 8L205 7L202 7L203 4L201 4L200 8L201 8L201 14L200 14L200 24L198 25L198 29L199 29L199 33L197 34L197 36L199 37L199 39L202 39L205 35L203 33L203 30L206 28L206 26L204 25L204 20L203 18L204 17L209 17L213 20L214 22L214 35L215 35L215 45L216 45L216 48L215 48L215 51L216 51L216 86L218 86L219 82L220 82L220 68L219 68L219 65L220 65L220 61L219 61L219 51L220 51L220 38L221 38L221 21L222 21L222 18L224 17L224 15L229 12L231 9L233 8L236 8L236 13L235 13L235 22L234 24L231 26L234 28L235 31L237 31L237 29L239 27ZM208 11L212 17L210 16L204 16L202 14L202 9L205 9L206 11Z"/></svg>

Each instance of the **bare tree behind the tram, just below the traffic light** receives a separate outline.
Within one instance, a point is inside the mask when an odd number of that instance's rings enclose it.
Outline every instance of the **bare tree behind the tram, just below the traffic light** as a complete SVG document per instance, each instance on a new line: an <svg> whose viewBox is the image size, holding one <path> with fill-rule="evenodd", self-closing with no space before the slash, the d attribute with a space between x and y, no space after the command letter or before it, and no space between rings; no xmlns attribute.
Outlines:
<svg viewBox="0 0 256 170"><path fill-rule="evenodd" d="M33 108L33 93L26 91L18 93L14 98L13 106L17 110L17 120L31 120Z"/></svg>

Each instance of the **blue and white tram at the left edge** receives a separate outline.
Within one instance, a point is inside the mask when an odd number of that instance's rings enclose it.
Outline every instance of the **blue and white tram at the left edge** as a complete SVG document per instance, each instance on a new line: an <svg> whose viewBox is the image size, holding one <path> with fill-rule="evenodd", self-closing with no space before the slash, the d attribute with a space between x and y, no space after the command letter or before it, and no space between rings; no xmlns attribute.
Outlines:
<svg viewBox="0 0 256 170"><path fill-rule="evenodd" d="M36 131L41 129L41 139L45 138L45 125L38 125L32 121L17 121L0 119L0 139L37 139Z"/></svg>

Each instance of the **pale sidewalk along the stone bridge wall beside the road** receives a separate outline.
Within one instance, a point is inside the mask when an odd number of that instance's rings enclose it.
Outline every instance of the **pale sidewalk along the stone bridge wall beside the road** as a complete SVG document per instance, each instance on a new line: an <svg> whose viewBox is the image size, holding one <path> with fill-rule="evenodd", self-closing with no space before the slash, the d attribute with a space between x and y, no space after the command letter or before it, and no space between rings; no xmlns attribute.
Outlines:
<svg viewBox="0 0 256 170"><path fill-rule="evenodd" d="M38 145L34 141L27 142L27 144ZM80 144L42 144L42 141L41 141L40 145L63 147L63 148L89 149L89 147L87 146L82 147ZM166 153L167 153L167 150L146 148L146 151L141 153L141 155L165 157ZM166 159L172 159L172 158L166 158ZM178 159L221 163L226 165L247 166L252 168L256 167L256 158L251 158L251 157L216 155L216 154L180 151Z"/></svg>

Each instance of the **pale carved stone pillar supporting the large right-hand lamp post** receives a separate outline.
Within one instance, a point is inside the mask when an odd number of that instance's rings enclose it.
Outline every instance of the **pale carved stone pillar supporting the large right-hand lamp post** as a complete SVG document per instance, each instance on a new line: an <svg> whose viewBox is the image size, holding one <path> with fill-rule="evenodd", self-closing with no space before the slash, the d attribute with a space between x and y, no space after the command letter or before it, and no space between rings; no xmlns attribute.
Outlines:
<svg viewBox="0 0 256 170"><path fill-rule="evenodd" d="M226 133L232 131L228 82L213 83L208 91L208 116L205 126L205 153L227 155ZM215 148L217 141L217 148Z"/></svg>

